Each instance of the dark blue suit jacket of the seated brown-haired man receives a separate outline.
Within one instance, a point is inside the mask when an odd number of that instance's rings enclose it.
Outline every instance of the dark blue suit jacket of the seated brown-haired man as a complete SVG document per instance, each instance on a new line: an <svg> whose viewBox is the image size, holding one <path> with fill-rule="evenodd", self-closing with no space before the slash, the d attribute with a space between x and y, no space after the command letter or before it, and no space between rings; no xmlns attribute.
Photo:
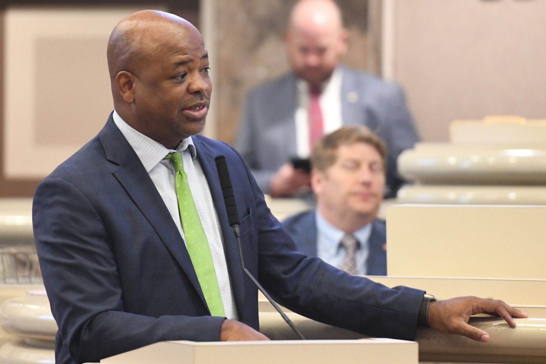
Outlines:
<svg viewBox="0 0 546 364"><path fill-rule="evenodd" d="M307 255L317 256L317 220L315 210L301 212L282 222L284 229L296 245ZM366 259L366 275L387 275L387 226L383 220L372 222L372 233L368 240L369 253Z"/></svg>

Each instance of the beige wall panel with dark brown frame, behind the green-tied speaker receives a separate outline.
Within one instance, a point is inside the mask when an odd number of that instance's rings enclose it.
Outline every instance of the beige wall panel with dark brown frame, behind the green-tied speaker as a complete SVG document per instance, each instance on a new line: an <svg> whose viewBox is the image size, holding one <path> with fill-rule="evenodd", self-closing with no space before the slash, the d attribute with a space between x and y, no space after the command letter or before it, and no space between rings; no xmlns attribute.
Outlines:
<svg viewBox="0 0 546 364"><path fill-rule="evenodd" d="M43 0L0 9L0 198L32 196L41 178L104 125L112 110L106 43L117 21L159 9L199 26L198 5Z"/></svg>

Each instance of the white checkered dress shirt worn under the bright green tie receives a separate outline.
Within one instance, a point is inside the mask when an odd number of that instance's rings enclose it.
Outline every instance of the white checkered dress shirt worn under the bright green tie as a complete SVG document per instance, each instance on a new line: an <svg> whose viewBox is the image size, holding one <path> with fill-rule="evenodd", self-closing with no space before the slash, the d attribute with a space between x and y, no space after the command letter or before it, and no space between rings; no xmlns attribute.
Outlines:
<svg viewBox="0 0 546 364"><path fill-rule="evenodd" d="M186 239L182 231L180 223L180 213L178 211L178 202L176 200L175 190L175 171L169 159L163 159L170 152L182 151L184 160L184 171L188 175L189 188L192 190L192 196L197 206L197 212L203 224L205 235L209 241L209 246L212 255L212 262L216 270L220 295L224 303L225 316L228 319L237 319L235 309L235 300L233 291L229 282L228 267L225 262L224 247L222 241L222 233L218 214L214 208L212 196L210 194L209 184L206 181L203 169L197 157L197 151L193 145L191 137L182 140L176 150L165 148L162 144L147 137L146 135L137 132L130 127L123 119L114 111L114 122L121 130L121 133L133 147L136 155L140 158L140 162L146 168L146 171L152 178L159 195L165 202L173 220L178 228L184 243ZM213 213L211 213L213 212ZM161 267L158 267L161 269Z"/></svg>

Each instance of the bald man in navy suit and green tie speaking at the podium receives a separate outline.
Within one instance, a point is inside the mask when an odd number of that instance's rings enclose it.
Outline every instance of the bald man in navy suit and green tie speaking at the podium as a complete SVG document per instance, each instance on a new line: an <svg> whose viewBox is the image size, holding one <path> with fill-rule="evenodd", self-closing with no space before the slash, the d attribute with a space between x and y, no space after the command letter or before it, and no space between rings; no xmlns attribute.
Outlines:
<svg viewBox="0 0 546 364"><path fill-rule="evenodd" d="M239 260L218 181L225 156L239 206L245 265L281 305L379 337L430 325L487 341L471 314L515 326L502 301L431 302L307 258L271 215L232 147L198 135L212 90L197 29L140 11L114 28L108 66L115 110L99 134L38 186L33 224L58 325L57 364L98 362L167 340L266 340L258 291ZM351 313L351 314L348 314Z"/></svg>

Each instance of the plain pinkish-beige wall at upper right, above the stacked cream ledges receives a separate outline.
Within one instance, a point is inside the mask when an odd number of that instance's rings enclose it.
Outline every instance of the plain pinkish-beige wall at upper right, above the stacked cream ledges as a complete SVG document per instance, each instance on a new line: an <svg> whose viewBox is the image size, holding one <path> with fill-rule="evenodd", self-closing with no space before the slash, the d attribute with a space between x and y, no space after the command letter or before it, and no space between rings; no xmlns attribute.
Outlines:
<svg viewBox="0 0 546 364"><path fill-rule="evenodd" d="M394 1L394 79L425 141L453 120L546 117L546 1Z"/></svg>

